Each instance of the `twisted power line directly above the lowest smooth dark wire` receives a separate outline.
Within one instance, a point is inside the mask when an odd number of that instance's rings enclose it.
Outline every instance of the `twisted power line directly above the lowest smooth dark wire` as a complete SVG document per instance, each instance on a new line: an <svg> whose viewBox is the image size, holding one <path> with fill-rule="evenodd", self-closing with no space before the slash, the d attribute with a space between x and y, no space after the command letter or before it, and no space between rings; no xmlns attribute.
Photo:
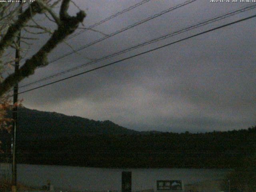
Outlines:
<svg viewBox="0 0 256 192"><path fill-rule="evenodd" d="M23 86L20 86L20 88L26 87L26 86L30 86L30 85L36 84L36 83L38 83L38 82L42 82L42 81L45 81L45 80L54 78L54 77L56 77L56 76L60 76L60 75L62 75L62 74L66 74L66 73L68 73L68 72L77 70L77 69L79 69L79 68L82 68L82 67L85 67L85 66L94 64L94 63L96 63L96 62L100 62L100 61L106 60L106 59L108 59L108 58L112 58L112 57L114 57L114 56L118 56L118 55L120 55L120 54L123 54L123 53L129 52L129 51L131 51L131 50L134 50L134 49L136 49L136 48L140 48L140 47L142 47L142 46L146 46L146 45L148 45L148 44L152 44L152 43L154 43L154 42L158 42L158 41L160 41L160 40L164 40L164 39L166 39L166 38L170 38L170 37L172 37L172 36L181 34L181 33L183 33L183 32L187 32L187 31L189 31L189 30L192 30L192 29L195 29L195 28L198 28L198 27L201 27L201 26L210 24L210 23L212 23L212 22L216 22L216 21L222 20L222 19L224 19L224 18L233 16L233 15L235 15L235 14L238 14L238 13L241 13L241 12L245 12L245 11L248 11L248 10L252 10L252 9L254 9L254 8L256 8L256 5L248 6L248 7L243 7L243 8L240 8L240 9L238 9L238 10L234 10L234 11L232 11L232 12L228 12L228 13L226 13L226 14L224 14L224 15L217 16L217 17L214 17L214 18L211 18L211 19L208 19L208 20L204 20L204 21L202 21L202 22L196 23L196 24L191 25L191 26L188 26L188 27L186 27L186 28L182 28L182 29L180 29L180 30L178 30L178 31L176 31L176 32L172 32L172 33L166 34L166 35L164 35L164 36L160 36L160 37L154 38L154 39L152 39L152 40L150 40L150 41L147 41L147 42L138 44L138 45L133 46L133 47L131 47L131 48L127 48L127 49L121 50L121 51L119 51L119 52L110 54L110 55L108 55L108 56L104 56L104 57L102 57L102 58L99 58L99 59L96 59L96 60L94 60L94 61L91 61L91 62L82 64L82 65L80 65L80 66L76 66L76 67L74 67L74 68L70 68L70 69L68 69L68 70L65 70L65 71L62 71L62 72L59 72L59 73L56 73L56 74L47 76L47 77L45 77L45 78L42 78L42 79L40 79L40 80L36 80L36 81L34 81L34 82L25 84L25 85L23 85Z"/></svg>

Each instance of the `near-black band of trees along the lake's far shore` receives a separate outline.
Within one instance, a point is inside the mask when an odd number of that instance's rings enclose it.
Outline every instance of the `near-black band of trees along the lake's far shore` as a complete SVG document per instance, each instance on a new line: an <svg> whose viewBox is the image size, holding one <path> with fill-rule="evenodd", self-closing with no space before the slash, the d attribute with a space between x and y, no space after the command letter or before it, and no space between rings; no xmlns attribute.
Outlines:
<svg viewBox="0 0 256 192"><path fill-rule="evenodd" d="M109 168L237 168L256 151L255 138L256 126L198 134L149 132L18 140L17 160Z"/></svg>

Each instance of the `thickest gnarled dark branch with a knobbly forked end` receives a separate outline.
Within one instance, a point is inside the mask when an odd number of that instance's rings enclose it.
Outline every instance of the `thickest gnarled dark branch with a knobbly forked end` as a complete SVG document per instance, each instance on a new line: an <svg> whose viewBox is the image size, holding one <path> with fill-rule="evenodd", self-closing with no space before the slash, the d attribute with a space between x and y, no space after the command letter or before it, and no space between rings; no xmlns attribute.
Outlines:
<svg viewBox="0 0 256 192"><path fill-rule="evenodd" d="M58 28L54 31L50 39L40 48L36 54L32 56L32 58L26 60L24 65L18 70L18 72L14 72L10 74L5 80L0 84L0 96L6 93L10 88L14 86L17 82L20 82L24 78L34 74L34 70L38 67L46 66L48 64L47 56L48 54L60 43L62 42L68 35L72 34L77 28L78 25L83 22L86 14L83 11L80 11L76 14L76 16L69 16L67 13L68 4L70 0L63 0L60 10L60 23L58 24ZM41 8L41 7L40 7ZM27 11L27 10L26 10ZM32 9L33 11L33 9ZM40 13L43 11L40 10ZM28 10L26 17L23 16L26 21L28 18L31 18L31 14ZM22 26L26 22L22 21ZM14 28L16 29L16 28ZM20 29L20 28L19 28ZM12 40L13 38L10 38ZM9 40L9 41L10 41ZM5 43L7 44L7 43ZM10 43L9 43L10 44ZM7 45L9 45L7 44ZM1 44L0 44L1 46ZM1 47L0 47L1 48ZM1 50L0 50L1 51Z"/></svg>

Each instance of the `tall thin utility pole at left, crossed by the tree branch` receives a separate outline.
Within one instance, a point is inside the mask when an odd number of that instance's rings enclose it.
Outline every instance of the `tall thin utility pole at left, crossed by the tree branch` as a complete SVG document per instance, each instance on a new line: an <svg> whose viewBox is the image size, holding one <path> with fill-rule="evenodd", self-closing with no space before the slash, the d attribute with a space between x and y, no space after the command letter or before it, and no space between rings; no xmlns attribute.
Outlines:
<svg viewBox="0 0 256 192"><path fill-rule="evenodd" d="M18 17L22 14L22 2L20 1L20 8L18 10ZM18 33L16 40L16 52L15 52L15 73L19 72L19 64L20 64L20 35L21 31ZM15 84L13 88L13 104L14 108L12 109L12 192L17 192L17 164L16 164L16 128L17 128L17 105L18 102L18 82Z"/></svg>

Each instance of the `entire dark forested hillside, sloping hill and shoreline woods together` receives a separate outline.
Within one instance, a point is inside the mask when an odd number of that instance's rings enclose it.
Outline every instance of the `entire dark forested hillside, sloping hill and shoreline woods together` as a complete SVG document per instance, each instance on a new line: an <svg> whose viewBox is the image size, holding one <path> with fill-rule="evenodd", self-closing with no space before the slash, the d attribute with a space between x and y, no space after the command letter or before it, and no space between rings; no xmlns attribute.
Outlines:
<svg viewBox="0 0 256 192"><path fill-rule="evenodd" d="M208 133L136 132L110 121L22 109L18 163L92 167L235 168L256 151L256 126ZM4 137L5 136L5 137ZM10 135L1 134L1 156Z"/></svg>

